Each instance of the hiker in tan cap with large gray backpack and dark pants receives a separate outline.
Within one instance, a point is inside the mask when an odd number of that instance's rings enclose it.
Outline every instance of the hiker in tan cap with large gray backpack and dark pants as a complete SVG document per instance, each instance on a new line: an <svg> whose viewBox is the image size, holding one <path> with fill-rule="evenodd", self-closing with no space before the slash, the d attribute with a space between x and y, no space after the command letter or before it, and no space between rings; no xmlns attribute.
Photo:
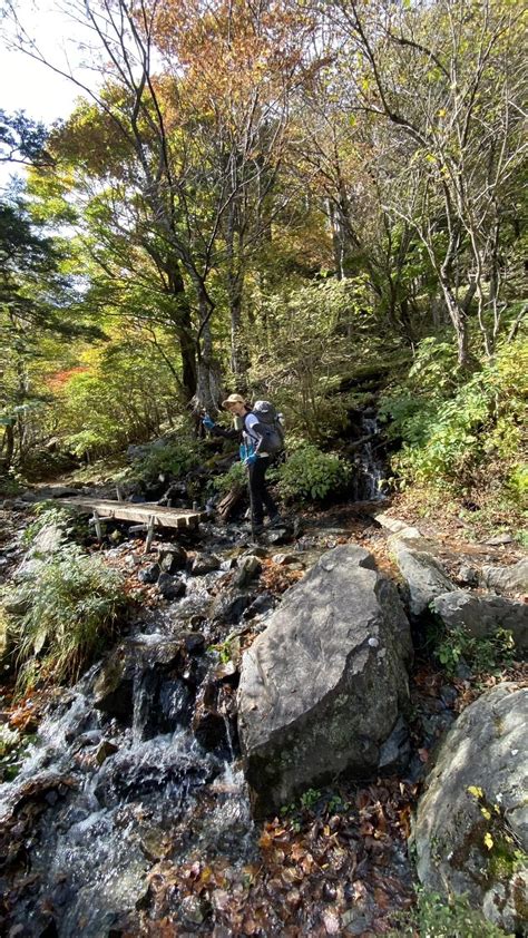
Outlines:
<svg viewBox="0 0 528 938"><path fill-rule="evenodd" d="M266 401L257 401L255 410L258 406L265 406L274 414L274 409ZM242 433L241 458L247 466L250 473L252 529L254 534L260 534L264 526L264 511L270 516L272 525L281 522L278 509L267 491L266 470L271 466L275 452L282 449L282 430L278 429L278 419L275 417L273 418L273 426L264 422L264 413L261 414L262 419L260 420L258 414L252 410L242 394L229 394L225 401L222 401L222 407L233 414L235 422L233 429L224 430L208 414L205 414L202 422L205 429L214 436L226 437L232 440L239 439Z"/></svg>

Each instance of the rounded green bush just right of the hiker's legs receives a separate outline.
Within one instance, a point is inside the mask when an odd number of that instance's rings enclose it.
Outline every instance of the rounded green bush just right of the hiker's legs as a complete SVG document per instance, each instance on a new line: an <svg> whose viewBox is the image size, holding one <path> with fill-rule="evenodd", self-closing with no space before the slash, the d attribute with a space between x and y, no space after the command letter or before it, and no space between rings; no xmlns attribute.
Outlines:
<svg viewBox="0 0 528 938"><path fill-rule="evenodd" d="M278 488L286 500L323 501L345 490L351 471L339 456L304 444L281 466Z"/></svg>

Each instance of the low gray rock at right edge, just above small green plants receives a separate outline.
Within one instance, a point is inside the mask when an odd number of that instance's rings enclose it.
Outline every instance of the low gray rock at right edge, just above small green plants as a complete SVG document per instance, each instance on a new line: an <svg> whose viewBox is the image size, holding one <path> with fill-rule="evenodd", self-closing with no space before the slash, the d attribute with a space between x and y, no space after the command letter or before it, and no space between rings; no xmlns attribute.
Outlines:
<svg viewBox="0 0 528 938"><path fill-rule="evenodd" d="M525 603L456 589L437 596L431 609L448 631L461 625L476 638L487 638L505 628L511 632L520 652L528 649L528 606Z"/></svg>

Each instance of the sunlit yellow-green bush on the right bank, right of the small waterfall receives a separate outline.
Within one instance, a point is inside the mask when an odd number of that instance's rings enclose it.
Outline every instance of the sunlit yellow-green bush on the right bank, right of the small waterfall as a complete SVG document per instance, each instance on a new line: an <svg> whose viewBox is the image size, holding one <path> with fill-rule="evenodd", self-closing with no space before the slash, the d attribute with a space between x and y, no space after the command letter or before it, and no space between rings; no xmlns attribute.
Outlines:
<svg viewBox="0 0 528 938"><path fill-rule="evenodd" d="M505 492L520 501L526 466L519 462L528 392L528 344L503 344L469 378L452 371L452 350L427 340L409 380L387 397L381 412L402 440L393 459L400 486L413 482L463 490L489 467Z"/></svg>

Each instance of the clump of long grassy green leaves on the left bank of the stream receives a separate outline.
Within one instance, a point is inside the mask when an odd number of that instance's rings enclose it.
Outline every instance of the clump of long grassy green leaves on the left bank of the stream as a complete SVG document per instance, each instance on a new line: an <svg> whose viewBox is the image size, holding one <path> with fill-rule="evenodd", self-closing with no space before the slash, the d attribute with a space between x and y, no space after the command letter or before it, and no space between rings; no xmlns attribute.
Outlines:
<svg viewBox="0 0 528 938"><path fill-rule="evenodd" d="M25 686L74 681L113 634L127 597L120 574L68 545L40 563L31 582L6 589L2 603Z"/></svg>

